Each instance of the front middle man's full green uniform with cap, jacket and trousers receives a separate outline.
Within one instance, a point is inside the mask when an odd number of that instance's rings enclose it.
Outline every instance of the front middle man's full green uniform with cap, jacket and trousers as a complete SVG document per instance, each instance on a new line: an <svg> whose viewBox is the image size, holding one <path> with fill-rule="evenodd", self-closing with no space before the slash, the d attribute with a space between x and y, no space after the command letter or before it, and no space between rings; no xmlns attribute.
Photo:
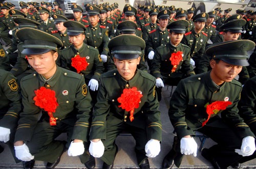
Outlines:
<svg viewBox="0 0 256 169"><path fill-rule="evenodd" d="M113 53L123 51L124 46L129 46L129 51L125 48L127 53L115 54L115 58L136 59L145 47L145 43L143 39L133 35L120 35L111 39L109 43L109 48ZM101 139L105 147L101 159L104 163L112 165L117 151L115 139L121 131L127 130L136 140L136 157L138 164L142 165L147 158L145 156L146 142L152 138L161 141L162 127L158 110L159 103L155 93L156 79L137 69L134 77L130 80L125 80L117 70L112 70L102 74L100 81L90 139ZM140 98L139 107L134 109L134 120L131 122L128 117L129 111L121 109L117 99L124 89L133 87L136 87L143 96Z"/></svg>

